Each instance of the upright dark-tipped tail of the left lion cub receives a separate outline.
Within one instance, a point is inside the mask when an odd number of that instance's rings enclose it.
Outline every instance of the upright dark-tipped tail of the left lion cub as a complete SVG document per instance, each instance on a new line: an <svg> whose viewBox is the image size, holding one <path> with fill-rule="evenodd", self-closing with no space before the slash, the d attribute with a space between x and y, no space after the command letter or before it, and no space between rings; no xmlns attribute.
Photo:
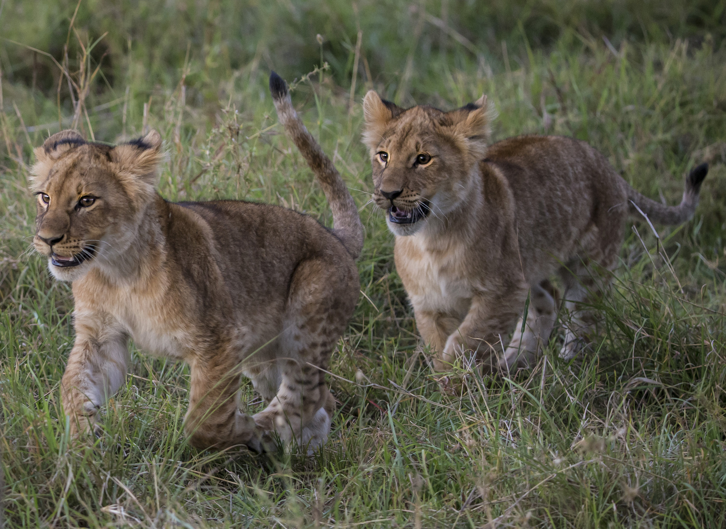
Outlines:
<svg viewBox="0 0 726 529"><path fill-rule="evenodd" d="M303 125L303 121L293 108L285 81L274 72L270 73L270 92L274 108L277 110L277 118L315 173L325 198L330 203L330 209L333 210L333 233L343 241L348 253L357 259L363 249L363 225L346 183L343 182L333 162L325 156L318 142Z"/></svg>

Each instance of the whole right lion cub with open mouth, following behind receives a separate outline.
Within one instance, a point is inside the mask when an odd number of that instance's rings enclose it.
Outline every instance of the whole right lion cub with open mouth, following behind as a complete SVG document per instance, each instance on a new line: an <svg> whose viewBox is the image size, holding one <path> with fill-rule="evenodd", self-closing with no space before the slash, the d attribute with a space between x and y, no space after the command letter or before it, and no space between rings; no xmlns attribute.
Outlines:
<svg viewBox="0 0 726 529"><path fill-rule="evenodd" d="M531 365L555 324L555 273L568 312L560 357L572 358L592 326L579 304L603 288L591 267L613 269L628 214L685 222L708 172L705 163L693 169L680 206L667 207L585 142L521 136L487 145L484 96L442 112L399 108L371 91L364 118L373 198L396 235L396 269L439 370L465 351L505 371Z"/></svg>

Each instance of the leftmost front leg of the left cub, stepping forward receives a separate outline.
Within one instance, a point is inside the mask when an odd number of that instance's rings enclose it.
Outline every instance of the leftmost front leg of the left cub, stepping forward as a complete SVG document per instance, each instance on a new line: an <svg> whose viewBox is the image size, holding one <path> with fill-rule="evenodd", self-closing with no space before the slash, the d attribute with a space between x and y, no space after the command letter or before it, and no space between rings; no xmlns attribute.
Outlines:
<svg viewBox="0 0 726 529"><path fill-rule="evenodd" d="M73 436L94 428L99 408L121 387L129 366L128 336L110 318L76 318L76 342L61 381Z"/></svg>

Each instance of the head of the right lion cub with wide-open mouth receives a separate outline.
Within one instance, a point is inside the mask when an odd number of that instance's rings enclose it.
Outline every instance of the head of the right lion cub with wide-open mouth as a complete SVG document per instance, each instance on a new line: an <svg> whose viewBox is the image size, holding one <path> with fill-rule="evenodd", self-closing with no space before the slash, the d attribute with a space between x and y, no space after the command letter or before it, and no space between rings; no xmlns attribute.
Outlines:
<svg viewBox="0 0 726 529"><path fill-rule="evenodd" d="M494 117L486 96L449 112L400 108L372 90L363 100L363 141L372 156L373 200L396 235L412 235L465 203Z"/></svg>

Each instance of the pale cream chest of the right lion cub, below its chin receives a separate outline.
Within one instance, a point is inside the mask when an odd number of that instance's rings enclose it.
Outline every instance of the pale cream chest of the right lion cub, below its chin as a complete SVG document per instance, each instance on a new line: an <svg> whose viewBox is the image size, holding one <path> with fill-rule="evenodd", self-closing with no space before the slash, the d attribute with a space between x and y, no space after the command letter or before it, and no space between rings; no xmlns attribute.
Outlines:
<svg viewBox="0 0 726 529"><path fill-rule="evenodd" d="M463 319L474 288L464 266L464 249L429 251L416 235L396 240L396 270L415 310L439 312Z"/></svg>

